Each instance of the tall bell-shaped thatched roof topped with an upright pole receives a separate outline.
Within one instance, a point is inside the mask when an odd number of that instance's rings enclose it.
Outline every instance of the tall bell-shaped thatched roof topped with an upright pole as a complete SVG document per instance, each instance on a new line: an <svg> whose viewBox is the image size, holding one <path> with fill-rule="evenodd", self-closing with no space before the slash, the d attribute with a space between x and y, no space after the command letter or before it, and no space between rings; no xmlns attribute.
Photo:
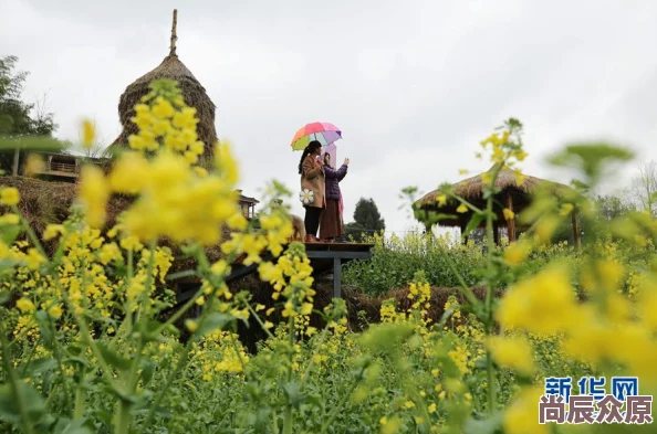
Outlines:
<svg viewBox="0 0 657 434"><path fill-rule="evenodd" d="M109 150L128 147L128 137L137 133L137 126L131 120L135 116L134 107L138 104L143 96L148 94L148 84L158 78L175 80L178 82L185 103L197 109L199 123L197 125L197 133L199 140L205 144L205 152L202 158L211 157L215 144L217 142L217 130L215 129L215 103L210 99L206 89L196 80L194 74L185 66L176 54L176 25L178 11L174 10L174 23L171 27L171 42L169 46L169 54L155 70L137 78L133 84L128 85L121 95L118 102L118 117L123 131L109 146Z"/></svg>

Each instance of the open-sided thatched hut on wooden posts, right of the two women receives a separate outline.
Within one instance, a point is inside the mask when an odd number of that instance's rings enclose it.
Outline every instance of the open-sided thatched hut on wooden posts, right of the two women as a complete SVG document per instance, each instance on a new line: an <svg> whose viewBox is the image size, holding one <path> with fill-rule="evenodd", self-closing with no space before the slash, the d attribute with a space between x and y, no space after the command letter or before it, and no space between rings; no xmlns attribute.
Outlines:
<svg viewBox="0 0 657 434"><path fill-rule="evenodd" d="M494 166L491 167L487 173L492 173ZM471 178L467 178L460 182L457 182L451 186L452 191L455 194L463 198L465 200L472 203L474 207L479 209L486 208L486 200L483 199L483 173L477 174ZM500 222L504 222L504 214L503 209L508 208L509 210L513 211L515 214L522 212L523 209L529 207L532 201L532 197L538 189L546 190L557 197L563 197L567 193L572 193L572 188L569 186L549 181L541 178L530 177L526 174L522 174L523 180L520 184L518 184L518 177L515 172L509 168L503 168L498 173L498 178L496 179L496 187L500 190L498 194L496 194L494 200L497 205L493 207L493 211L497 214L496 224L496 239L498 237L497 226ZM457 208L459 207L460 202L455 200L448 200L447 203L444 205L438 205L437 198L440 194L440 189L434 190L423 198L417 200L414 203L414 208L416 210L424 211L427 215L430 212L437 212L440 214L450 214L455 215L451 219L444 219L438 221L438 224L441 226L456 226L460 227L463 231L470 221L472 213L457 213ZM421 212L419 211L419 212ZM508 220L507 221L507 234L510 241L514 241L517 237L517 224L515 220ZM577 227L577 219L576 215L573 214L573 231L574 231L574 240L575 245L578 246L580 244L580 230Z"/></svg>

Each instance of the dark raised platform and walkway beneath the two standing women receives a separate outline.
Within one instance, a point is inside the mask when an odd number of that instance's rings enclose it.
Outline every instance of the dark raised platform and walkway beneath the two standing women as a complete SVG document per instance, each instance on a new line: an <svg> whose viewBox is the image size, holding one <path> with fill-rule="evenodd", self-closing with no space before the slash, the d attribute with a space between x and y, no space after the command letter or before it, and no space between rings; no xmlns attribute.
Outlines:
<svg viewBox="0 0 657 434"><path fill-rule="evenodd" d="M342 265L353 260L368 260L372 257L374 244L365 243L304 243L305 254L313 267L313 276L333 271L333 297L342 296ZM285 245L283 246L285 247ZM262 255L264 261L273 261L271 253ZM238 261L231 265L231 273L226 283L231 284L258 271L258 264L243 265ZM178 285L178 303L185 303L194 297L199 289L199 283Z"/></svg>

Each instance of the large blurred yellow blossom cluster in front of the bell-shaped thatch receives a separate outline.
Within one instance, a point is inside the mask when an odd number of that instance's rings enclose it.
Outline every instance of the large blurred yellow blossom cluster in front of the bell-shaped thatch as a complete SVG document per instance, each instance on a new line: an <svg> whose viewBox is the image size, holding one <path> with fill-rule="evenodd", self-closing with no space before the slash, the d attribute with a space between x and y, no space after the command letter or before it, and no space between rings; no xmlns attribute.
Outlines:
<svg viewBox="0 0 657 434"><path fill-rule="evenodd" d="M168 99L156 96L135 110L139 131L129 137L135 151L121 155L108 176L95 166L82 170L79 199L90 225L103 226L111 194L122 193L137 195L123 216L123 229L140 241L168 237L210 245L221 240L222 224L243 229L230 146L216 147L210 173L200 167L190 170L205 149L196 133L196 109L178 93Z"/></svg>

